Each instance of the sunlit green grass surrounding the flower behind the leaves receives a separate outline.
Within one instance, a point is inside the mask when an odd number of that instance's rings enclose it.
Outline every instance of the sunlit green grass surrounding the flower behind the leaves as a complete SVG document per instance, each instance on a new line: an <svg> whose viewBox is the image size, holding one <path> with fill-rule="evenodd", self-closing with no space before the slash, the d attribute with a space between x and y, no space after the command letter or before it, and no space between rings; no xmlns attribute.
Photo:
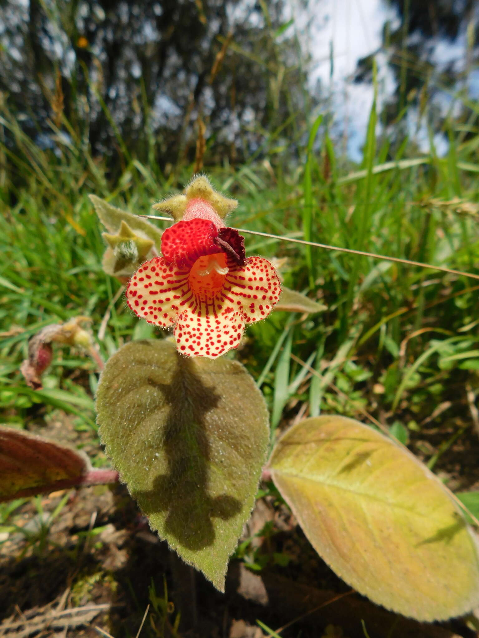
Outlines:
<svg viewBox="0 0 479 638"><path fill-rule="evenodd" d="M35 393L19 373L27 339L77 315L91 317L97 336L119 290L102 271L103 229L87 195L148 214L155 201L188 181L191 167L175 167L165 179L158 167L125 154L123 173L110 183L107 167L65 118L71 140L58 137L57 154L34 145L7 111L0 123L14 140L13 147L0 147L11 167L0 175L2 420L22 426L46 405L47 412L72 413L80 429L94 434L95 364L56 348L45 390ZM273 313L247 331L237 356L261 385L274 428L299 412L364 419L366 410L417 431L443 401L472 423L465 387L475 386L478 369L476 281L286 241L300 237L477 272L478 213L470 202L478 197L479 136L456 143L459 131L450 122L445 158L410 156L407 141L392 156L388 140L376 139L375 124L373 107L361 166L336 156L318 118L305 131L308 141L298 148L303 159L296 165L286 150L277 151L273 131L263 145L268 163L252 158L207 171L215 186L240 202L231 225L285 239L250 235L248 253L286 258L285 285L307 290L328 307L319 315ZM153 332L120 296L98 348L107 359L126 341Z"/></svg>

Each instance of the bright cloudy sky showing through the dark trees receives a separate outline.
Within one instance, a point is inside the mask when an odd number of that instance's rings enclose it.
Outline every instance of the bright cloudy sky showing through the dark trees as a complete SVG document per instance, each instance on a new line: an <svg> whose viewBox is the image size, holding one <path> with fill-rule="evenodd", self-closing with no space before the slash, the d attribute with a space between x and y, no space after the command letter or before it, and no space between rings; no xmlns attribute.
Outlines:
<svg viewBox="0 0 479 638"><path fill-rule="evenodd" d="M294 13L294 9L293 9ZM330 95L330 108L335 114L337 130L342 131L347 154L360 161L364 144L369 112L373 99L370 83L352 81L358 61L370 54L376 54L378 79L378 110L396 89L396 79L388 65L385 52L381 51L384 23L389 20L391 29L400 26L397 11L384 0L310 0L308 10L299 10L294 16L300 31L308 33L305 45L312 52L314 64L310 73L310 88ZM479 16L478 16L479 17ZM309 25L307 23L309 20ZM437 40L432 57L439 66L453 64L459 71L466 59L466 31L459 34L453 43ZM333 52L333 73L331 76L331 50ZM471 96L479 96L479 72L469 75L468 86ZM451 100L446 94L434 98L442 112L450 108ZM429 136L425 122L414 118L408 120L410 134L423 152L429 151ZM381 124L378 124L378 131ZM436 152L447 152L447 141L441 134L434 137Z"/></svg>

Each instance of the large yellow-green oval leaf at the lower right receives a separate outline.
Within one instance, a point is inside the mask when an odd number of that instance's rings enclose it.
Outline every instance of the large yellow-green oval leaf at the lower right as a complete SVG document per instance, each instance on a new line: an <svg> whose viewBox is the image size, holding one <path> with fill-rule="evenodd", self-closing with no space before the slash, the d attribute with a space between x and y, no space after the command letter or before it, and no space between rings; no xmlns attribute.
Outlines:
<svg viewBox="0 0 479 638"><path fill-rule="evenodd" d="M422 621L479 605L475 535L394 441L346 417L306 419L278 441L270 470L316 551L373 602Z"/></svg>

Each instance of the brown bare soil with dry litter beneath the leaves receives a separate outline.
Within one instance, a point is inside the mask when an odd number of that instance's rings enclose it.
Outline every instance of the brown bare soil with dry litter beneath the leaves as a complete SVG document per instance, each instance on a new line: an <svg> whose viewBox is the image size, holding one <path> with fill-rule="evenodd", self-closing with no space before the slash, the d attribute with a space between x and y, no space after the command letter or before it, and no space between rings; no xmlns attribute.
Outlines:
<svg viewBox="0 0 479 638"><path fill-rule="evenodd" d="M75 431L68 415L55 415L46 427L32 423L31 429L102 458L91 434ZM423 431L417 451L445 438L444 429ZM440 473L456 489L478 486L478 447L471 432L441 457ZM264 567L255 572L233 559L225 594L151 533L124 486L70 491L49 524L65 494L43 496L41 508L26 500L6 523L19 529L0 545L0 636L134 637L148 605L140 634L145 638L271 635L258 620L283 638L479 636L465 621L423 625L351 591L317 556L273 493L257 501L244 531L244 538L253 537L250 549ZM42 531L42 524L49 530Z"/></svg>

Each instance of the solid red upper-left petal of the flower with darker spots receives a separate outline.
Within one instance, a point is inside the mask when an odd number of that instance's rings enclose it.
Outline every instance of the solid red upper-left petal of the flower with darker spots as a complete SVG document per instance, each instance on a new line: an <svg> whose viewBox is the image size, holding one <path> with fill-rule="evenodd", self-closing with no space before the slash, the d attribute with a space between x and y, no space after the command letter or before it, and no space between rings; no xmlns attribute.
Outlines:
<svg viewBox="0 0 479 638"><path fill-rule="evenodd" d="M208 219L178 221L163 232L162 253L167 264L176 263L180 268L190 268L204 255L220 253L215 243L218 228Z"/></svg>

